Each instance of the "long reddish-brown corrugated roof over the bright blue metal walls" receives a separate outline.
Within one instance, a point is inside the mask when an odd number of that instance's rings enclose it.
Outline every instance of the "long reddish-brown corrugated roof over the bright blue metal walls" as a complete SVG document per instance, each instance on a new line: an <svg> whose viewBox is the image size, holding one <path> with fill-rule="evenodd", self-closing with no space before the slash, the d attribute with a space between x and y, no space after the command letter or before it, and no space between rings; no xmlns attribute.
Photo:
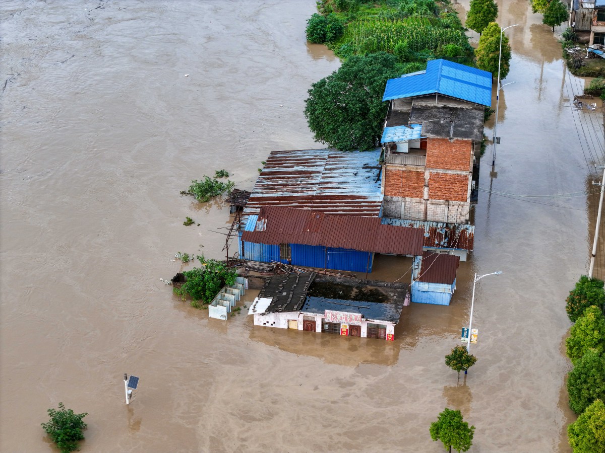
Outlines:
<svg viewBox="0 0 605 453"><path fill-rule="evenodd" d="M383 225L379 217L342 216L317 210L261 207L254 231L242 240L262 244L293 243L397 255L422 254L422 230Z"/></svg>

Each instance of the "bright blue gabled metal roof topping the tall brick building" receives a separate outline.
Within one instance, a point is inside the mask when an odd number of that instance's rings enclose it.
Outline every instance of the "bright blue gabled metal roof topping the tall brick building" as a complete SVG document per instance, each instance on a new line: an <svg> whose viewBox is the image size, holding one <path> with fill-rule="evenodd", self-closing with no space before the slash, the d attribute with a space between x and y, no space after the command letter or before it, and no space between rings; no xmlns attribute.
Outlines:
<svg viewBox="0 0 605 453"><path fill-rule="evenodd" d="M448 60L431 60L427 70L387 81L383 101L439 93L491 106L492 74Z"/></svg>

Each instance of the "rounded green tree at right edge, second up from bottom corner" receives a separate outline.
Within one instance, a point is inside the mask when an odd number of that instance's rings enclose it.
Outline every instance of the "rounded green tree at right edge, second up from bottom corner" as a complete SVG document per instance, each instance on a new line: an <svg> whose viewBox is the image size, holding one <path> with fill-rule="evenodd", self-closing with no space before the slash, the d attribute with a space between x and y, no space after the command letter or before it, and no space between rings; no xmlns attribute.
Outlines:
<svg viewBox="0 0 605 453"><path fill-rule="evenodd" d="M569 406L581 414L595 399L605 400L605 358L589 350L567 376Z"/></svg>

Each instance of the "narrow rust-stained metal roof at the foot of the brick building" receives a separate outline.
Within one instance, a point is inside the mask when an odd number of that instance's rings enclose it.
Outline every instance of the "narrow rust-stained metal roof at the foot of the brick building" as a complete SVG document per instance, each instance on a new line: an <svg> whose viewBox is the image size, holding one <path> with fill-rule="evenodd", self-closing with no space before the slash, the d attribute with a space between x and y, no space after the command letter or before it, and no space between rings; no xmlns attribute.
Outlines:
<svg viewBox="0 0 605 453"><path fill-rule="evenodd" d="M434 248L459 248L473 251L475 225L460 223L424 222L382 217L385 225L412 226L424 229L424 246Z"/></svg>

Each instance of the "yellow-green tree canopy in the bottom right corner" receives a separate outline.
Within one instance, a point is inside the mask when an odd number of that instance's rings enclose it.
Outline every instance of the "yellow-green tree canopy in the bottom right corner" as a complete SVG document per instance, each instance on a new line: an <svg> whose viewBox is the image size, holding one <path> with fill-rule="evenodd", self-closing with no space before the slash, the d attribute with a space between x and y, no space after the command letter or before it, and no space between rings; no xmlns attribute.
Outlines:
<svg viewBox="0 0 605 453"><path fill-rule="evenodd" d="M600 399L567 426L567 439L574 453L605 451L605 404Z"/></svg>

